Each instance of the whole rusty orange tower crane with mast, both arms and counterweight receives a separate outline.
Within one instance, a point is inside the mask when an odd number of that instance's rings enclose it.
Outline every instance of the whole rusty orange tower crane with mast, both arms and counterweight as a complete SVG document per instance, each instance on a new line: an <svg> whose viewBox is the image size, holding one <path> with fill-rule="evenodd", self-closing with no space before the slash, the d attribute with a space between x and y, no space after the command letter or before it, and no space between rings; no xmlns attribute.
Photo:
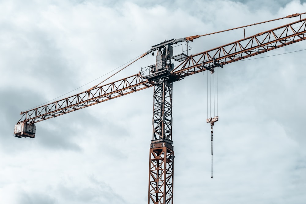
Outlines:
<svg viewBox="0 0 306 204"><path fill-rule="evenodd" d="M299 20L292 23L197 54L188 53L187 43L203 35L166 40L154 45L135 61L150 53L154 55L156 51L155 64L142 68L135 75L101 86L96 85L87 91L21 112L22 117L14 127L14 136L34 138L35 123L39 121L153 87L153 134L149 158L148 203L173 204L173 83L205 70L214 73L216 68L223 68L226 64L306 39L306 18L302 19L302 14L305 13L284 17L300 17ZM174 53L173 47L176 44L187 44L187 49ZM211 125L216 121L218 121L218 116L207 119Z"/></svg>

